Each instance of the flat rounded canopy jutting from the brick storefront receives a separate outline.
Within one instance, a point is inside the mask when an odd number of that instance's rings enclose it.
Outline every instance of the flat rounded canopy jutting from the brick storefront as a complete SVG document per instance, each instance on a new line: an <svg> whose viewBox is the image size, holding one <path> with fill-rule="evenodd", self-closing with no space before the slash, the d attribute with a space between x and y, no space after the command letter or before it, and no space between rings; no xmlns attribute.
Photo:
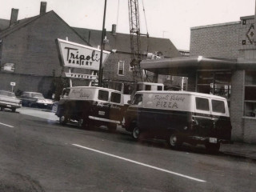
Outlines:
<svg viewBox="0 0 256 192"><path fill-rule="evenodd" d="M143 60L143 70L157 74L180 74L187 76L192 70L256 70L256 61L225 58L182 57Z"/></svg>

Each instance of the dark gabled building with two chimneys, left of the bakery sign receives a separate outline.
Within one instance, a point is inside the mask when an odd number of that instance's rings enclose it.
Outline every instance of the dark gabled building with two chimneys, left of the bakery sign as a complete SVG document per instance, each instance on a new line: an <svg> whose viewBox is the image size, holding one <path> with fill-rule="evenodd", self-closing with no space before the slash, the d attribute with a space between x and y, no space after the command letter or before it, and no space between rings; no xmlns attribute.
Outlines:
<svg viewBox="0 0 256 192"><path fill-rule="evenodd" d="M53 10L46 13L42 3L38 16L17 20L18 10L12 10L8 26L1 22L0 31L0 88L38 91L45 96L54 89L54 79L62 76L58 60L56 38L69 38L72 42L89 45ZM7 23L6 23L7 24ZM1 26L1 25L0 25Z"/></svg>

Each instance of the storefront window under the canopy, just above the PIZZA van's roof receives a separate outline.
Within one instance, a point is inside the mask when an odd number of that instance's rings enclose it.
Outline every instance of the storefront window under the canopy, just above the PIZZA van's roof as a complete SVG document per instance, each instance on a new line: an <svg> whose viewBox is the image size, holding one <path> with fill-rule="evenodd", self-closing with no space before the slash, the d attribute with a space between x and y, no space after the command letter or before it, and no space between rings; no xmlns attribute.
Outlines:
<svg viewBox="0 0 256 192"><path fill-rule="evenodd" d="M229 99L231 93L231 72L198 70L197 91Z"/></svg>

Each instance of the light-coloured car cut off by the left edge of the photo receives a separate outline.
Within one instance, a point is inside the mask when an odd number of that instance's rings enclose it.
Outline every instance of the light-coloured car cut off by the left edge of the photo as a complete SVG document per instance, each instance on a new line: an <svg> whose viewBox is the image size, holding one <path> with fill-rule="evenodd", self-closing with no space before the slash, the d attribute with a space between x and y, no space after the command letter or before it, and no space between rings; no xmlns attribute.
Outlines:
<svg viewBox="0 0 256 192"><path fill-rule="evenodd" d="M17 108L20 108L21 100L16 98L15 94L6 91L6 90L0 90L0 108L1 110L4 110L5 108L8 108L12 110L12 112L15 112Z"/></svg>

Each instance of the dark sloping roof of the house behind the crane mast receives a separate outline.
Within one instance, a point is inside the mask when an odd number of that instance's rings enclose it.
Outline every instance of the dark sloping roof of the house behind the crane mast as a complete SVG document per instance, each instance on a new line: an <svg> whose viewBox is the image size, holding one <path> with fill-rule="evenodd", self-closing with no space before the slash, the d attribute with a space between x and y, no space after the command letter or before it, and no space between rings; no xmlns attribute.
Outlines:
<svg viewBox="0 0 256 192"><path fill-rule="evenodd" d="M90 30L84 28L74 27L74 30L85 38L87 42L94 47L101 45L102 31ZM106 31L106 38L109 40L105 45L106 50L117 50L118 52L131 53L130 50L130 34L116 33L112 34L111 31ZM181 54L168 38L147 38L141 37L141 53L155 53L161 51L166 57L180 57Z"/></svg>

